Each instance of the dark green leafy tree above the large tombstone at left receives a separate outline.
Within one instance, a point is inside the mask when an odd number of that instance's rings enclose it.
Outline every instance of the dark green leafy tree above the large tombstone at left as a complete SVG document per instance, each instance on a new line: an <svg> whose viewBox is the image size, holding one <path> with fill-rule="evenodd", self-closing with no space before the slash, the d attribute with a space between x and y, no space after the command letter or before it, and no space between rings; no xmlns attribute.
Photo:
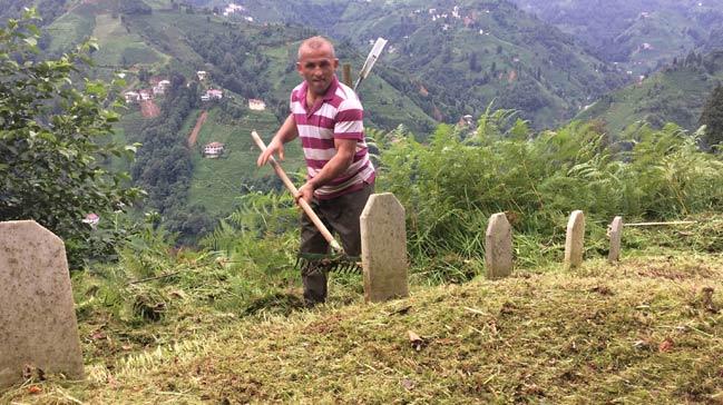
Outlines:
<svg viewBox="0 0 723 405"><path fill-rule="evenodd" d="M43 60L36 16L30 10L0 30L0 220L35 219L65 239L77 267L89 246L111 248L118 237L91 234L84 217L110 218L141 194L126 186L126 174L101 166L109 156L131 158L135 149L108 141L118 120L108 109L113 89L81 76L96 47L87 42Z"/></svg>

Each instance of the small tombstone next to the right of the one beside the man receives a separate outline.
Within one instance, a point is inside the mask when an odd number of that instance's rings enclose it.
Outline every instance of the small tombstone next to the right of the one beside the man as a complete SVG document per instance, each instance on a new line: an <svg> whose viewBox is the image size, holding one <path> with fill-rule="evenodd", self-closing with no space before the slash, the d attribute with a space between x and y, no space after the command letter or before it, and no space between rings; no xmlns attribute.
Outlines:
<svg viewBox="0 0 723 405"><path fill-rule="evenodd" d="M505 213L489 218L485 233L487 278L502 278L512 273L512 228Z"/></svg>

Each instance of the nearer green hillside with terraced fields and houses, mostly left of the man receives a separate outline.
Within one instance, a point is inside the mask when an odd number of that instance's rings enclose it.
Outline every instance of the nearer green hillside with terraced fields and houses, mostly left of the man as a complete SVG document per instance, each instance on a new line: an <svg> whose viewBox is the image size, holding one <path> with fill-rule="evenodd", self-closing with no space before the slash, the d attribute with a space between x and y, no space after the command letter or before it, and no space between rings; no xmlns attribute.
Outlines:
<svg viewBox="0 0 723 405"><path fill-rule="evenodd" d="M27 3L27 2L26 2ZM136 185L149 192L141 207L156 210L166 226L180 233L182 243L213 228L213 219L234 209L251 190L279 188L275 175L255 166L257 148L250 134L257 130L270 139L287 113L289 92L301 81L294 69L300 39L316 33L301 26L232 21L204 10L168 1L92 0L68 1L51 21L43 21L43 52L58 56L86 38L96 38L96 66L87 73L109 79L125 75L123 92L147 90L162 80L165 95L140 103L128 102L115 128L114 140L140 142L134 164L107 164L131 172ZM361 67L364 55L340 43L344 62ZM378 65L360 88L365 122L371 128L403 124L416 134L428 134L436 125L404 91L378 75ZM197 71L206 71L202 80ZM412 87L397 72L397 86ZM202 101L216 89L223 99ZM250 108L260 99L266 108ZM204 113L205 112L205 113ZM206 120L190 134L198 117ZM204 146L224 144L218 159L203 156ZM292 145L284 164L291 174L303 165L301 148Z"/></svg>

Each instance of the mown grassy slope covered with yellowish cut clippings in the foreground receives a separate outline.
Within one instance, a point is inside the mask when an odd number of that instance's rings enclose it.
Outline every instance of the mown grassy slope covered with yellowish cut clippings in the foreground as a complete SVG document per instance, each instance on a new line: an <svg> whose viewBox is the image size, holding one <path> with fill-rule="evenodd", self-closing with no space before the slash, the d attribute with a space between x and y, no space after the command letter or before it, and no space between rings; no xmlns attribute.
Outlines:
<svg viewBox="0 0 723 405"><path fill-rule="evenodd" d="M379 305L217 317L183 342L97 358L85 383L30 382L0 398L713 403L723 398L722 276L720 255L595 260Z"/></svg>

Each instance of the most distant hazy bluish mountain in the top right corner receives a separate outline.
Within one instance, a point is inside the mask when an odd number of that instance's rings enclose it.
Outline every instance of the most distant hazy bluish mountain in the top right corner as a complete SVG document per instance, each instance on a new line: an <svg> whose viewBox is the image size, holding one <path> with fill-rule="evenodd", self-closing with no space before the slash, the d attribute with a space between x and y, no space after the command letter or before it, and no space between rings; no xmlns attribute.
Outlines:
<svg viewBox="0 0 723 405"><path fill-rule="evenodd" d="M721 0L514 1L635 77L720 41L723 27Z"/></svg>

